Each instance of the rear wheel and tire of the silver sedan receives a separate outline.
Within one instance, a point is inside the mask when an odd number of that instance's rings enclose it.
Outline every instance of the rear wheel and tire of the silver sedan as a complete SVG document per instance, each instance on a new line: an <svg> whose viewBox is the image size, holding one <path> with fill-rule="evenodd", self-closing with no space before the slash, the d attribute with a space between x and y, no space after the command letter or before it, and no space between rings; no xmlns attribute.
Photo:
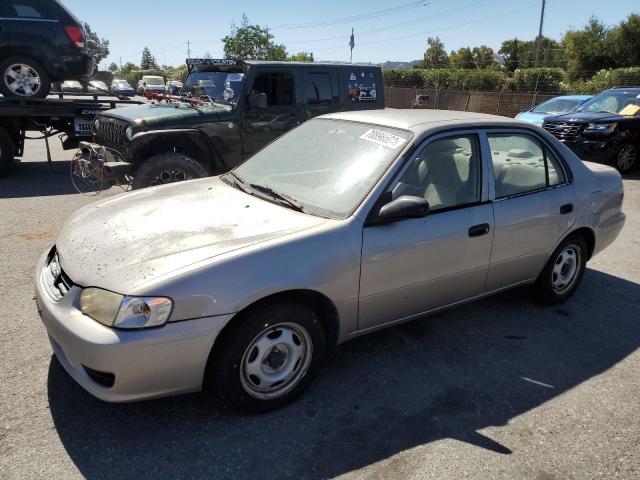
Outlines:
<svg viewBox="0 0 640 480"><path fill-rule="evenodd" d="M575 273L572 273L571 253L576 255ZM580 235L569 235L555 249L536 281L538 298L546 304L558 304L575 293L587 266L589 251ZM566 270L565 270L565 267ZM565 273L566 272L566 273ZM563 285L566 283L566 285Z"/></svg>

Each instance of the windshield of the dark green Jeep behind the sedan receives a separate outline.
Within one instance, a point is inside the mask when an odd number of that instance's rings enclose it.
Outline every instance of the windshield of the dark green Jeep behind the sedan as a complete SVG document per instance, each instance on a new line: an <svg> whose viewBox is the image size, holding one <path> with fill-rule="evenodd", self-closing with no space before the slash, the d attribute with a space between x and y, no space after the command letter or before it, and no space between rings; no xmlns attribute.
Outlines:
<svg viewBox="0 0 640 480"><path fill-rule="evenodd" d="M245 74L240 71L191 72L182 93L194 97L210 97L216 103L235 107L244 86Z"/></svg>

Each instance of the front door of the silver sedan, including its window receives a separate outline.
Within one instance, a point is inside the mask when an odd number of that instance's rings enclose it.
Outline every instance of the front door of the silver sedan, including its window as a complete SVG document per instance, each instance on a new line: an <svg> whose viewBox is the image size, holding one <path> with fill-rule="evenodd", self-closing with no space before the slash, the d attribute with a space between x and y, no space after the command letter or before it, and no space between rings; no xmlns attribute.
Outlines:
<svg viewBox="0 0 640 480"><path fill-rule="evenodd" d="M361 330L483 292L493 209L482 202L481 171L476 133L437 138L405 167L388 195L422 196L430 213L363 230Z"/></svg>

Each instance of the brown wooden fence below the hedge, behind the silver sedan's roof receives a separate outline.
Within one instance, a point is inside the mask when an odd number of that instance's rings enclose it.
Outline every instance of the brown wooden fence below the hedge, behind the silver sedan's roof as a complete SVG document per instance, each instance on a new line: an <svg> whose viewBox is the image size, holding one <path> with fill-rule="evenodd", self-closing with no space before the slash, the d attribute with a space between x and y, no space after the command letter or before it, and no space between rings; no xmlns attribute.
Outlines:
<svg viewBox="0 0 640 480"><path fill-rule="evenodd" d="M385 87L385 106L390 108L414 108L418 95L426 96L424 105L415 108L439 110L463 110L465 112L492 113L514 117L556 95L481 92L465 90L436 90L416 87Z"/></svg>

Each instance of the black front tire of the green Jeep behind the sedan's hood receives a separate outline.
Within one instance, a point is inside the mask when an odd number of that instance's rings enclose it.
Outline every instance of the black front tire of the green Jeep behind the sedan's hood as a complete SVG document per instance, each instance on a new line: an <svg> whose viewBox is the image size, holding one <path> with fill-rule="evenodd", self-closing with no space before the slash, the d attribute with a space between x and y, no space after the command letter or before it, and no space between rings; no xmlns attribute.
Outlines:
<svg viewBox="0 0 640 480"><path fill-rule="evenodd" d="M142 162L133 177L133 188L153 187L209 175L207 168L182 153L159 153Z"/></svg>

